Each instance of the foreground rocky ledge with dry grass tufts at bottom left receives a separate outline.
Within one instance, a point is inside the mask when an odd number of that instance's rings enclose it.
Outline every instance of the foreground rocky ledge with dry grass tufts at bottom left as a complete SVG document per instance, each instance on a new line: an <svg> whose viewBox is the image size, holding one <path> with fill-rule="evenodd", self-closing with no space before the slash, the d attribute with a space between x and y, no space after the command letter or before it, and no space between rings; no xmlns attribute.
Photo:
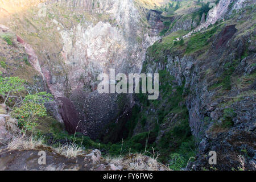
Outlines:
<svg viewBox="0 0 256 182"><path fill-rule="evenodd" d="M11 118L7 107L0 105L0 171L126 171L169 170L156 158L129 154L118 158L101 155L100 150L85 150L75 143L53 147L42 140L22 135L18 120ZM40 164L40 152L46 163Z"/></svg>

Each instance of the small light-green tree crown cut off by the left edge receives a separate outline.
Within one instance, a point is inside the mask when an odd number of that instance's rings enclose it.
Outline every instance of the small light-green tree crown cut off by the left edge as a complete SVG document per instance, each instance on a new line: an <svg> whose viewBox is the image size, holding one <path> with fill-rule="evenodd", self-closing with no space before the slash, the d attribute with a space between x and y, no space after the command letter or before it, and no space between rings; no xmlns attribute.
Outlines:
<svg viewBox="0 0 256 182"><path fill-rule="evenodd" d="M6 104L7 100L11 97L22 98L19 94L20 91L25 90L25 80L19 77L2 77L0 76L0 96L3 98L3 104ZM19 96L16 96L19 94Z"/></svg>

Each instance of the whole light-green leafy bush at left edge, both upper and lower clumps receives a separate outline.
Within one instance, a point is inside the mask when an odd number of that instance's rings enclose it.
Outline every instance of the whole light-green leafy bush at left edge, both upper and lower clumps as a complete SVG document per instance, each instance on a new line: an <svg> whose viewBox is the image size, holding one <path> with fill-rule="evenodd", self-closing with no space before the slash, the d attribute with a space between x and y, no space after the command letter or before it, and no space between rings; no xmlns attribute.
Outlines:
<svg viewBox="0 0 256 182"><path fill-rule="evenodd" d="M17 118L19 126L23 132L32 130L37 124L35 121L38 117L47 115L46 107L44 104L52 101L52 95L46 92L36 94L29 94L23 97L21 93L25 88L25 80L19 77L2 77L0 76L0 96L10 103L15 100L11 115Z"/></svg>

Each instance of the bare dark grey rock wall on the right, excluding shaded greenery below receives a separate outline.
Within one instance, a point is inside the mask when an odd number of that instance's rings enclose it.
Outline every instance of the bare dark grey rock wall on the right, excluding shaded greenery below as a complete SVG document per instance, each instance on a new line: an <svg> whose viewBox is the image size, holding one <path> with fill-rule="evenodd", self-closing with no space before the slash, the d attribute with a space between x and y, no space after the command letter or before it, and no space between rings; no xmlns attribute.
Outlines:
<svg viewBox="0 0 256 182"><path fill-rule="evenodd" d="M220 5L221 2L224 3L220 1ZM159 60L155 54L158 46L158 52L162 51L159 41L147 53L144 72L167 71L174 77L174 84L184 84L183 97L189 112L189 126L199 144L197 160L189 169L210 169L205 156L216 151L218 163L215 167L218 170L238 169L241 166L239 155L245 156L246 169L255 170L255 31L251 30L253 22L246 13L249 11L253 15L255 10L251 11L251 4L246 4L247 7L245 4L238 6L234 1L233 7L243 9L237 9L240 13L233 13L227 23L221 24L205 46L188 52L187 46L192 45L188 38L183 46L164 49L163 59ZM232 9L226 4L223 7L225 9L221 12L225 13L219 14L221 17ZM238 20L245 22L236 24ZM207 35L207 31L196 35ZM197 43L200 41L198 39ZM152 51L154 48L156 50ZM163 84L160 81L160 85ZM169 121L169 124L160 125L162 135L168 131L166 126L175 125L174 118Z"/></svg>

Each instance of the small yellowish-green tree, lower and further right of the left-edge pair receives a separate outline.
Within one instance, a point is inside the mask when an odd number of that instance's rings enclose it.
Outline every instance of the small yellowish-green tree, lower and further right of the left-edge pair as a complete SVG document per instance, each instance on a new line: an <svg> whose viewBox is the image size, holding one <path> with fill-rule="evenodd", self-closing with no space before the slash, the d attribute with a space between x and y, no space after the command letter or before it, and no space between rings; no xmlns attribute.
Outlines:
<svg viewBox="0 0 256 182"><path fill-rule="evenodd" d="M23 133L33 130L38 124L39 117L47 115L44 104L52 102L52 95L46 92L30 94L26 96L19 107L14 107L11 115L18 119L19 127Z"/></svg>

